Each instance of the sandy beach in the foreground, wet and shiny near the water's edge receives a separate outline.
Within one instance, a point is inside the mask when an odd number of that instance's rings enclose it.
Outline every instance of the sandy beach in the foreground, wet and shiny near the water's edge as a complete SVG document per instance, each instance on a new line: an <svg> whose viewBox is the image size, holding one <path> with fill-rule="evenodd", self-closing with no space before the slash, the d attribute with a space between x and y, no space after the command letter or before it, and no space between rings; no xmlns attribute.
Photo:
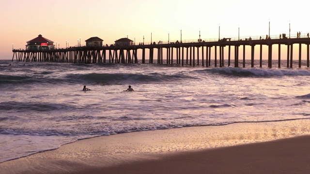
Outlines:
<svg viewBox="0 0 310 174"><path fill-rule="evenodd" d="M131 132L0 163L0 174L307 174L310 120Z"/></svg>

